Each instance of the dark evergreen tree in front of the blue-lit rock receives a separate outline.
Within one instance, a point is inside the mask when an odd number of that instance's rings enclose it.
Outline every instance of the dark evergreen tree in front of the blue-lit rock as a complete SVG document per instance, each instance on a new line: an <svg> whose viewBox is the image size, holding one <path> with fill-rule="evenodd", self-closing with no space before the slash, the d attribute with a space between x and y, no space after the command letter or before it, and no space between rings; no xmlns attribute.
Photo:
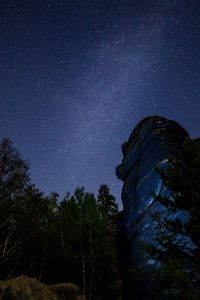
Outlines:
<svg viewBox="0 0 200 300"><path fill-rule="evenodd" d="M158 169L168 196L158 195L155 200L172 215L182 212L185 219L167 217L155 212L157 245L145 249L160 268L154 272L159 299L200 298L200 143L185 140L182 151L169 158L166 170Z"/></svg>

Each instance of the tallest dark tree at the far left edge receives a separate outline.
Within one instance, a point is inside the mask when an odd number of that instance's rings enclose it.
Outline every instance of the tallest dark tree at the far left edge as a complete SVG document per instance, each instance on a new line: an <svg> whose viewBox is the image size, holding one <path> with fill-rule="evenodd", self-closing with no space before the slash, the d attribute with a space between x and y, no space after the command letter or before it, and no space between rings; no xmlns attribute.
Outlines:
<svg viewBox="0 0 200 300"><path fill-rule="evenodd" d="M0 265L23 243L13 238L17 231L15 206L17 199L25 194L30 182L29 165L21 159L10 139L0 141Z"/></svg>

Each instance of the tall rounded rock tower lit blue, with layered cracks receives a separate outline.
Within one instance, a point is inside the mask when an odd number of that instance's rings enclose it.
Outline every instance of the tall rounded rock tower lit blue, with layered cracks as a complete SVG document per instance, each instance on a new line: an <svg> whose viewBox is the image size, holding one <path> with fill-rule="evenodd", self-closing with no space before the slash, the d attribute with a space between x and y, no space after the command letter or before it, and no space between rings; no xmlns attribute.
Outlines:
<svg viewBox="0 0 200 300"><path fill-rule="evenodd" d="M123 184L123 222L120 227L129 243L129 263L148 266L153 263L145 257L138 241L152 242L155 237L154 222L150 215L164 210L155 203L152 192L167 194L155 167L166 168L167 157L175 155L188 133L176 122L159 116L142 120L122 145L124 158L116 169ZM142 299L142 298L141 298Z"/></svg>

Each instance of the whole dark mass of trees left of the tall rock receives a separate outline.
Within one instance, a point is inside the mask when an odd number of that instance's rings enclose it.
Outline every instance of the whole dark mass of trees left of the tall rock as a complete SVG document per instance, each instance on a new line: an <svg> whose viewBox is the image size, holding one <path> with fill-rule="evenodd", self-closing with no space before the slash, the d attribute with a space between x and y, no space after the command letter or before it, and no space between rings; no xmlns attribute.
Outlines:
<svg viewBox="0 0 200 300"><path fill-rule="evenodd" d="M101 185L44 196L31 184L29 164L9 139L0 141L1 280L26 274L46 283L73 282L87 299L108 299L115 275L110 226L115 198Z"/></svg>

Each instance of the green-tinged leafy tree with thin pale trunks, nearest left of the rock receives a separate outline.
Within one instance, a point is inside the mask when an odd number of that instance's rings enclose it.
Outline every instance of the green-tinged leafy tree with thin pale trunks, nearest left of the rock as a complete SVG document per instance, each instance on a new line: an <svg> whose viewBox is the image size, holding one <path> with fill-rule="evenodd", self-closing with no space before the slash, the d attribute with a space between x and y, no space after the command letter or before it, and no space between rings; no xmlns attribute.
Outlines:
<svg viewBox="0 0 200 300"><path fill-rule="evenodd" d="M115 244L109 222L92 193L75 190L60 203L62 274L82 288L87 299L104 299L113 281Z"/></svg>

